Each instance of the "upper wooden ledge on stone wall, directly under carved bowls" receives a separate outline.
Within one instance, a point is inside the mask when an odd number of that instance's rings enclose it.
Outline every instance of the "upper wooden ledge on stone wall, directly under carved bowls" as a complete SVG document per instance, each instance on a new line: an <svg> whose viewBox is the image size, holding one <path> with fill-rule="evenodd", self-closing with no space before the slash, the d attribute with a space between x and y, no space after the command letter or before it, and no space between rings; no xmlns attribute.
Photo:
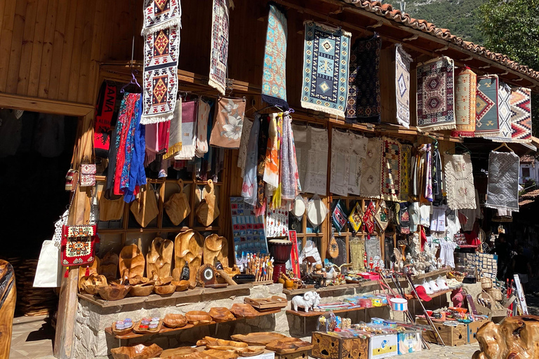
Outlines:
<svg viewBox="0 0 539 359"><path fill-rule="evenodd" d="M181 299L182 302L189 302L189 299L190 299L191 302L196 303L196 302L201 302L201 299L196 298L196 297L201 297L202 295L231 293L231 292L237 292L239 290L250 290L252 287L253 287L253 283L229 285L228 287L224 287L224 288L196 287L194 289L186 290L185 292L173 292L173 294L166 295L166 296L161 296L159 294L149 294L147 297L127 297L124 299L110 300L110 301L103 300L99 296L86 294L86 293L79 293L77 294L77 296L81 299L91 302L92 304L100 306L101 308L110 308L114 306L124 306L128 304L144 304L144 303L149 303L149 302L170 301L171 299Z"/></svg>

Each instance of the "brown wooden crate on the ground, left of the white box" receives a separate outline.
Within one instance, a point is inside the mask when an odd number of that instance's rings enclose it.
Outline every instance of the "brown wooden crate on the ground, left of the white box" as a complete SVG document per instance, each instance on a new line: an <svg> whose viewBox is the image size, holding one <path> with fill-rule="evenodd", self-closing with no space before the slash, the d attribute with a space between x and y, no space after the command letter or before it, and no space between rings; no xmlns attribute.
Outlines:
<svg viewBox="0 0 539 359"><path fill-rule="evenodd" d="M368 338L340 338L322 332L312 333L311 356L319 359L368 359Z"/></svg>

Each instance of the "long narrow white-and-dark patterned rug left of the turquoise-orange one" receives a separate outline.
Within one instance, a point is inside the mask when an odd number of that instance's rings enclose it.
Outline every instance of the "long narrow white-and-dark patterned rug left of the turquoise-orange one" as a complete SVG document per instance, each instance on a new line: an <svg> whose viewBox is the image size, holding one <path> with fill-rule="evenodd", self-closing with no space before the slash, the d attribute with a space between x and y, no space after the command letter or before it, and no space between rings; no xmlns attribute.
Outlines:
<svg viewBox="0 0 539 359"><path fill-rule="evenodd" d="M225 95L228 61L228 0L213 0L211 15L210 79L208 85Z"/></svg>

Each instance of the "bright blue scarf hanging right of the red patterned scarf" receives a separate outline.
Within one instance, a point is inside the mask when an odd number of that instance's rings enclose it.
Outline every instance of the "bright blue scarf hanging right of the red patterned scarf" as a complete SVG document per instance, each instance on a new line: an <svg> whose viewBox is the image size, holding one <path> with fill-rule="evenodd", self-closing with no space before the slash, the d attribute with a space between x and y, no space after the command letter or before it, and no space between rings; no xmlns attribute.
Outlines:
<svg viewBox="0 0 539 359"><path fill-rule="evenodd" d="M138 114L135 122L135 134L133 136L133 154L131 156L131 166L129 169L129 179L125 186L121 188L124 192L124 201L131 203L135 201L138 189L146 184L146 172L144 169L145 158L145 127L140 123L142 115L142 101L137 102ZM166 136L168 138L168 134Z"/></svg>

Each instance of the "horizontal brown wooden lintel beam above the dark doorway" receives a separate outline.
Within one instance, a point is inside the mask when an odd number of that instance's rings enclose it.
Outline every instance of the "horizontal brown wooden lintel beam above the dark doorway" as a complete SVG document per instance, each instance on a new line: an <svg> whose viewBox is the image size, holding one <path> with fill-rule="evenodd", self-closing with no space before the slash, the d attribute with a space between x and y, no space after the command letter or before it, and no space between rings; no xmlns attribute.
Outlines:
<svg viewBox="0 0 539 359"><path fill-rule="evenodd" d="M90 113L93 115L94 111L94 107L91 104L48 100L38 97L11 95L8 93L0 93L0 107L76 117L86 116Z"/></svg>

